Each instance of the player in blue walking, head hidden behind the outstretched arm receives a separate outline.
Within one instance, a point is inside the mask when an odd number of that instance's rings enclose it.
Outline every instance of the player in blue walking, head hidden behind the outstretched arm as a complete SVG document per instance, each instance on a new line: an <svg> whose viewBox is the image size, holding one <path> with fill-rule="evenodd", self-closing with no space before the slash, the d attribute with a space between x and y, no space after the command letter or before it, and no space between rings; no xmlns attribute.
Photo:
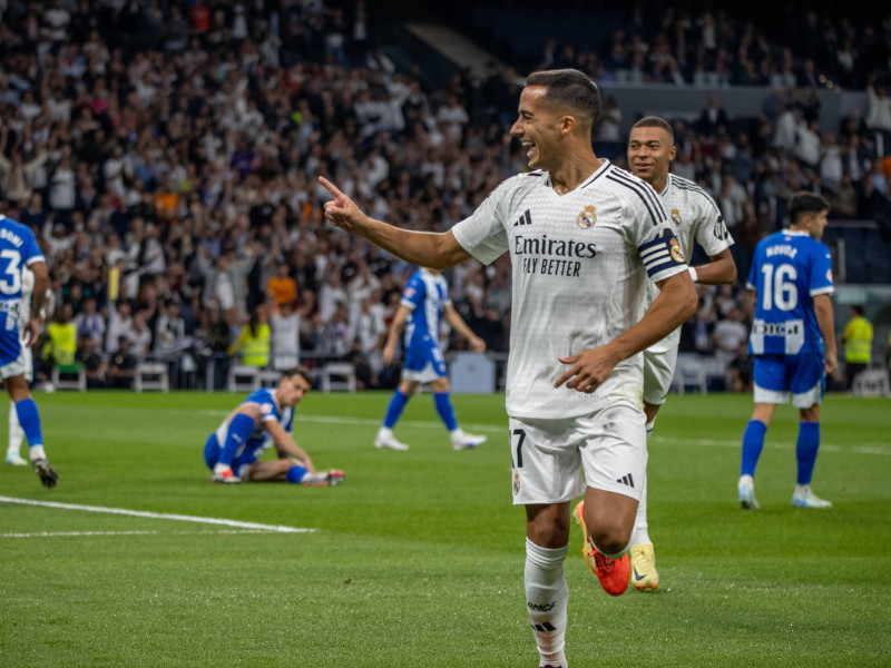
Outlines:
<svg viewBox="0 0 891 668"><path fill-rule="evenodd" d="M405 331L405 358L402 366L402 380L390 400L383 425L374 439L375 448L390 450L408 450L409 446L393 436L405 404L418 391L421 383L430 383L433 391L433 404L442 420L453 450L476 448L486 442L486 436L468 434L458 425L451 397L449 396L449 376L446 372L446 360L439 347L440 320L446 321L470 343L477 352L486 351L486 342L473 334L467 323L458 314L449 298L449 285L441 272L420 268L409 278L402 292L399 311L393 318L390 334L383 347L382 360L385 365L393 361L396 343Z"/></svg>

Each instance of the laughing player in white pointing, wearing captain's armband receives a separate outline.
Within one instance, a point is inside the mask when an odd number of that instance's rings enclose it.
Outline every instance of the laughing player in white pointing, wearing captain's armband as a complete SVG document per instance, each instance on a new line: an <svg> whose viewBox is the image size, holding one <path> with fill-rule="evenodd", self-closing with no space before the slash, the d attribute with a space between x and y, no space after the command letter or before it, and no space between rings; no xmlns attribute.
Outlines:
<svg viewBox="0 0 891 668"><path fill-rule="evenodd" d="M647 459L639 353L696 310L658 195L591 149L599 110L599 91L582 72L531 75L511 135L533 171L503 181L443 234L372 220L320 178L334 197L325 204L333 225L413 264L488 264L510 253L513 503L526 507L526 608L539 666L551 668L568 666L569 503L585 493L588 559L604 588L621 593ZM640 318L647 279L662 291Z"/></svg>

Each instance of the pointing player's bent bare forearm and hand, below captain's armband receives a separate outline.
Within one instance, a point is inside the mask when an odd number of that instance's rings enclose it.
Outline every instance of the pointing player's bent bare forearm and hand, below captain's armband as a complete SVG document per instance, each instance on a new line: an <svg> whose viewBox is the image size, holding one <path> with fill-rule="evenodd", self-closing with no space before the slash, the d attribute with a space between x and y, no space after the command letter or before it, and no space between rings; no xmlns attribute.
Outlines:
<svg viewBox="0 0 891 668"><path fill-rule="evenodd" d="M606 382L616 364L662 341L696 313L696 288L688 273L675 274L656 285L658 296L634 327L606 345L560 357L561 364L572 366L554 386L566 383L570 390L590 394Z"/></svg>

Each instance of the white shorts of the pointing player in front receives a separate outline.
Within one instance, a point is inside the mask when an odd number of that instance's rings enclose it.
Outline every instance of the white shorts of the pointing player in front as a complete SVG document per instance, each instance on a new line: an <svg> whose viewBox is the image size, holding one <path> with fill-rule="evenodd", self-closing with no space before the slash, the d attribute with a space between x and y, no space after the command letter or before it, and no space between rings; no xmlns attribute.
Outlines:
<svg viewBox="0 0 891 668"><path fill-rule="evenodd" d="M629 401L565 420L511 418L513 504L564 503L586 487L639 501L647 469L645 422L644 411Z"/></svg>

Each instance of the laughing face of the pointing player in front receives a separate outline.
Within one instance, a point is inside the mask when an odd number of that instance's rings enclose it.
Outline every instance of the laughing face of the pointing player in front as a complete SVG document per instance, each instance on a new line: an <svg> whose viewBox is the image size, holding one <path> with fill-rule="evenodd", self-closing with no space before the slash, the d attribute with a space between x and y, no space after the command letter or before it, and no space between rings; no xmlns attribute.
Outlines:
<svg viewBox="0 0 891 668"><path fill-rule="evenodd" d="M526 157L532 169L552 171L559 166L558 145L565 116L558 115L545 100L547 88L527 86L520 95L518 117L510 134L526 148Z"/></svg>

